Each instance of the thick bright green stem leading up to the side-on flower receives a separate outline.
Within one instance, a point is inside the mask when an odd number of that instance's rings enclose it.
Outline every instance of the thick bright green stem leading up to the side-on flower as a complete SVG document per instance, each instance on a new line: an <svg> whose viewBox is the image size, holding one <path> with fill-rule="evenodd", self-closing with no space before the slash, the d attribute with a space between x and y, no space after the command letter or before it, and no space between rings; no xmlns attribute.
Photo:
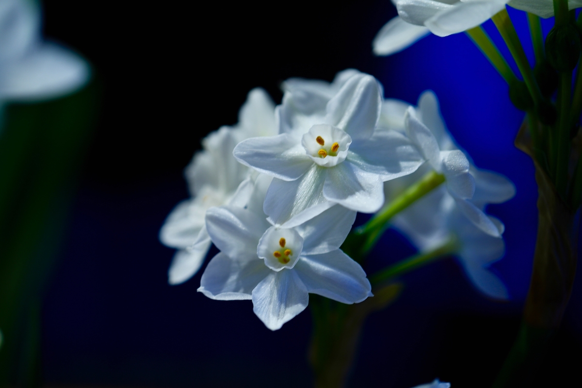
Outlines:
<svg viewBox="0 0 582 388"><path fill-rule="evenodd" d="M362 254L365 255L374 247L379 237L382 236L389 220L393 216L402 212L404 209L420 200L430 193L434 188L440 186L445 181L445 176L431 170L415 184L404 190L402 194L396 197L388 205L385 205L372 219L365 225L361 226L356 233L366 234L366 240L362 247Z"/></svg>

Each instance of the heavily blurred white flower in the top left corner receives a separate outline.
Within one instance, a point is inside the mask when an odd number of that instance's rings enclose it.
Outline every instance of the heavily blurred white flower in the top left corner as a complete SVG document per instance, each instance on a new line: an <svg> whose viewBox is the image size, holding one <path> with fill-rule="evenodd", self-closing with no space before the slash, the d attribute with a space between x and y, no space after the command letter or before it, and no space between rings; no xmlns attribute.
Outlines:
<svg viewBox="0 0 582 388"><path fill-rule="evenodd" d="M60 97L83 86L87 63L41 36L36 1L0 2L0 103Z"/></svg>

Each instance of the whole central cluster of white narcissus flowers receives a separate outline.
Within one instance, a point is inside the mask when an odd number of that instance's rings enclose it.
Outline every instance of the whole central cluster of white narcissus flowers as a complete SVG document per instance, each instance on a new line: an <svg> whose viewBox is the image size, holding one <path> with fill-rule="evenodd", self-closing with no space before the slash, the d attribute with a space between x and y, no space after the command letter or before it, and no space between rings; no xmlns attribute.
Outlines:
<svg viewBox="0 0 582 388"><path fill-rule="evenodd" d="M402 212L395 226L421 251L454 237L477 287L507 297L487 272L503 253L503 224L484 208L512 197L513 185L471 165L432 92L417 107L385 101L378 80L352 69L332 83L290 79L282 87L276 108L264 91L251 91L239 124L205 138L186 169L193 197L169 215L160 235L179 249L170 283L196 273L212 242L221 252L198 291L252 300L271 330L303 311L308 293L361 302L372 296L371 284L339 249L356 212L378 212L386 197L432 170L445 184Z"/></svg>

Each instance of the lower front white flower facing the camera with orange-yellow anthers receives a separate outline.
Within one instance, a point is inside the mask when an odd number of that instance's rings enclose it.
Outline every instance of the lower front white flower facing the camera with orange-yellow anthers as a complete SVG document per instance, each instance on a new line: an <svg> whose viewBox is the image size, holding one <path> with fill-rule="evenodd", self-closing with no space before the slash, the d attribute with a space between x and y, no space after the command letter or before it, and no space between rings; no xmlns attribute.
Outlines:
<svg viewBox="0 0 582 388"><path fill-rule="evenodd" d="M271 330L308 304L308 293L352 304L371 296L370 282L340 245L356 212L334 206L302 225L274 226L262 210L271 178L260 175L246 208L211 208L206 227L221 250L198 291L216 300L252 300Z"/></svg>

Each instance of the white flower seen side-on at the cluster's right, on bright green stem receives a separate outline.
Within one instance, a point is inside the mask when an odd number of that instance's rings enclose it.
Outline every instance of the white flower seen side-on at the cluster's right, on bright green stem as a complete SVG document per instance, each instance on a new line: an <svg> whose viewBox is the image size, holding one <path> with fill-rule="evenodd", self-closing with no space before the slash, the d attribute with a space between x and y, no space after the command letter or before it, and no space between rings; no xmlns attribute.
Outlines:
<svg viewBox="0 0 582 388"><path fill-rule="evenodd" d="M392 128L396 131L404 127L428 163L410 177L385 184L386 190L392 192L387 197L393 197L404 186L409 186L432 168L445 175L446 189L459 211L483 232L493 237L501 237L503 224L486 215L483 209L489 203L501 203L512 198L515 187L511 181L493 172L477 170L471 165L446 130L439 112L437 96L432 91L421 94L418 108L407 106L404 118L400 119L403 125L400 125L398 115L402 114L405 105L403 102L392 101L392 108L384 110L384 122L393 123Z"/></svg>

